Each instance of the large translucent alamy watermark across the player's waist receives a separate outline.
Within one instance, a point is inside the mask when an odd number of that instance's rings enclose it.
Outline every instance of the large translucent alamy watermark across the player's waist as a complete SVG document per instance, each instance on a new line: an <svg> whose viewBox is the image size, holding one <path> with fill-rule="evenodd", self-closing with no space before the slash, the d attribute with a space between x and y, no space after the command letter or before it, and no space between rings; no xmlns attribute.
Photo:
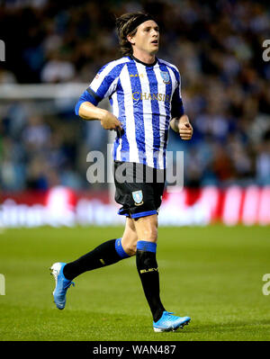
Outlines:
<svg viewBox="0 0 270 359"><path fill-rule="evenodd" d="M146 163L147 157L145 153L139 153L139 162L131 164L129 162L130 153L121 152L122 164L115 168L112 167L112 145L107 145L107 163L103 152L90 151L87 154L86 162L92 163L86 171L86 179L90 184L113 184L114 177L119 183L163 183L169 186L176 185L178 188L184 186L184 152L183 151L166 151L166 171L155 169L152 166L142 167ZM153 153L152 164L155 167L163 167L165 165L163 155ZM157 166L158 164L158 166ZM161 166L160 166L161 165ZM106 171L106 167L107 171ZM134 172L135 168L136 171ZM133 173L136 177L133 177Z"/></svg>

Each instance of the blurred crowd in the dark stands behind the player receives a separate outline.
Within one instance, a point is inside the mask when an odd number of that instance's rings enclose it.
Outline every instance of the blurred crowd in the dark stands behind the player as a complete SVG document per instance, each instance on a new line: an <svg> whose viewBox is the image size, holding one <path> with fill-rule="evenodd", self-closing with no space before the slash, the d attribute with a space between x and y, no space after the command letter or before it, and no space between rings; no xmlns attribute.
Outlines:
<svg viewBox="0 0 270 359"><path fill-rule="evenodd" d="M171 131L168 150L184 151L184 184L270 184L270 61L262 56L270 5L263 1L0 1L6 44L0 86L90 83L121 57L115 16L133 11L156 17L157 58L174 63L182 76L194 134L187 142ZM75 103L0 99L2 189L89 187L86 154L106 151L106 131L76 118ZM55 112L41 111L48 107Z"/></svg>

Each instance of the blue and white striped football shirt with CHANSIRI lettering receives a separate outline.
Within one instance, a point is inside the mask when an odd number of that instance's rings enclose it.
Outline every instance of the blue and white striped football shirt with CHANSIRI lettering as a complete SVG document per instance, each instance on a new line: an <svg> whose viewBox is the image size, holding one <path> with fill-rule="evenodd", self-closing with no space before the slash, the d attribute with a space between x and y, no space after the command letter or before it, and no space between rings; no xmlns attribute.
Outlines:
<svg viewBox="0 0 270 359"><path fill-rule="evenodd" d="M184 113L178 69L159 58L152 65L133 57L114 60L82 94L76 114L81 103L97 105L106 97L123 128L114 140L113 159L166 168L169 121Z"/></svg>

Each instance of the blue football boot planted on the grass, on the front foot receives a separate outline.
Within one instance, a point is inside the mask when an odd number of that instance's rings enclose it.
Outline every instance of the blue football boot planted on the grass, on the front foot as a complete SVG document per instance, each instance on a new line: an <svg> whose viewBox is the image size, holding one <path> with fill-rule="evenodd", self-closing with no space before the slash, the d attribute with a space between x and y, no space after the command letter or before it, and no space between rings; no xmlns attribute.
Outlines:
<svg viewBox="0 0 270 359"><path fill-rule="evenodd" d="M155 332L169 332L175 331L178 328L183 328L190 322L189 317L176 317L172 312L164 311L162 317L156 322L153 321L153 328Z"/></svg>

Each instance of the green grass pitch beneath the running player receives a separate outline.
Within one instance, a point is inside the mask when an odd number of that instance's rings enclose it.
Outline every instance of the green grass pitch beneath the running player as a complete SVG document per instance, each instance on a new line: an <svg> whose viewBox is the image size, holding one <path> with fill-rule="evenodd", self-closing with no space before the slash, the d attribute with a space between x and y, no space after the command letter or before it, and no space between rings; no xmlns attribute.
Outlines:
<svg viewBox="0 0 270 359"><path fill-rule="evenodd" d="M122 228L5 229L0 234L1 340L269 340L269 227L215 225L160 228L157 262L166 310L189 315L189 326L155 333L135 258L85 273L67 292L65 310L52 301L49 266L68 262Z"/></svg>

